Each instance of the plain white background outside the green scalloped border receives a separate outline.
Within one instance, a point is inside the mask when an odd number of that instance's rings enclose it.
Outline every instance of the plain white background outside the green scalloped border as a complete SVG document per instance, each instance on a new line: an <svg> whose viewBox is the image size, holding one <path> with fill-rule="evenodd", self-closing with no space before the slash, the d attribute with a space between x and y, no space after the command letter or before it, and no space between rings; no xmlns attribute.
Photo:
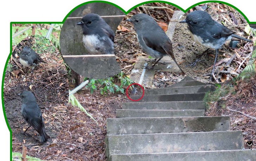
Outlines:
<svg viewBox="0 0 256 161"><path fill-rule="evenodd" d="M136 1L115 1L108 0L116 5L122 7L125 11L128 11L133 6L145 2L146 0L136 0ZM193 4L201 2L202 0L167 0L172 2L183 9L186 9ZM243 1L233 1L233 0L223 0L229 4L240 9L246 17L251 22L256 22L255 16L255 3L250 0ZM56 0L51 1L35 1L27 0L17 1L8 0L1 3L1 30L0 30L0 41L1 41L1 53L0 53L0 78L2 80L2 74L4 71L4 66L6 59L10 53L10 22L21 22L21 21L36 21L36 22L50 22L50 21L63 21L64 17L77 5L87 2L87 0L76 0L69 2L60 2ZM2 92L2 91L1 91ZM1 99L1 98L0 98ZM17 107L18 108L18 107ZM4 114L2 108L0 108L0 154L1 160L9 160L10 156L10 136L9 130L7 128Z"/></svg>

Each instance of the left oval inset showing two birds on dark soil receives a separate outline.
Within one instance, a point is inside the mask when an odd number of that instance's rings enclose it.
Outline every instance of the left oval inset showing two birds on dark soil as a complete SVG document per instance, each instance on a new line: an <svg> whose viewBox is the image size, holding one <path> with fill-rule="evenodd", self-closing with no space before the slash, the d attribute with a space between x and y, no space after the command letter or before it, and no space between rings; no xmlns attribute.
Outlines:
<svg viewBox="0 0 256 161"><path fill-rule="evenodd" d="M20 152L24 145L27 154L41 157L66 117L65 64L56 46L43 36L29 36L13 47L3 82L12 150Z"/></svg>

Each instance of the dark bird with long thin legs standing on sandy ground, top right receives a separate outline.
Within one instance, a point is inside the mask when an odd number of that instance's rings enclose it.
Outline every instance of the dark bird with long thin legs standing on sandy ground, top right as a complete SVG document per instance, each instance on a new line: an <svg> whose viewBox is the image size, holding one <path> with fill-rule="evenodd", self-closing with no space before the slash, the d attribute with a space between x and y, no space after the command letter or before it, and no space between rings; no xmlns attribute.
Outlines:
<svg viewBox="0 0 256 161"><path fill-rule="evenodd" d="M210 80L212 79L219 49L222 48L223 44L227 40L230 40L232 37L234 37L237 39L251 42L251 40L236 35L235 32L229 30L229 28L213 20L210 14L205 11L193 11L186 16L185 20L180 21L180 23L188 24L191 38L197 44L208 48L206 51L208 51L209 49L215 49L215 61L212 68ZM205 52L203 52L203 54ZM191 66L196 65L196 63L200 60L200 57L203 54L201 54L199 58L197 58L196 61L191 64Z"/></svg>

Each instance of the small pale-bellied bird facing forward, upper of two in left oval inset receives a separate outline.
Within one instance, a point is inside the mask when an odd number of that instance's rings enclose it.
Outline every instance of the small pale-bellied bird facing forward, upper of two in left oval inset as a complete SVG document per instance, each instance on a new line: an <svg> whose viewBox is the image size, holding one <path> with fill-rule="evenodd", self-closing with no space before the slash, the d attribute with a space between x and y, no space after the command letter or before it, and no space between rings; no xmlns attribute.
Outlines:
<svg viewBox="0 0 256 161"><path fill-rule="evenodd" d="M19 54L20 64L31 68L31 81L34 67L39 63L46 63L34 50L25 46ZM47 63L46 63L47 64Z"/></svg>

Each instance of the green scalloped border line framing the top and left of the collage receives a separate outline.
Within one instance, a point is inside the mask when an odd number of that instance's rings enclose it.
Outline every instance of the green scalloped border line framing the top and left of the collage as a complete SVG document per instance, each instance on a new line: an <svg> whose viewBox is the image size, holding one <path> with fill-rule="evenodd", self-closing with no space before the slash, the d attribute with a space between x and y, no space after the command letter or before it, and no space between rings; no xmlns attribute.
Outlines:
<svg viewBox="0 0 256 161"><path fill-rule="evenodd" d="M96 3L96 2L98 2L98 3L110 4L110 5L112 5L112 6L115 6L115 7L119 8L122 12L124 12L125 14L129 13L130 11L132 11L132 9L134 9L134 8L136 8L136 7L138 7L138 6L141 6L141 5L147 4L147 3L152 3L152 2L166 3L166 4L169 4L169 5L172 5L172 6L174 6L174 7L179 8L179 9L180 9L181 11L183 11L183 12L187 12L190 8L193 8L194 6L197 6L197 5L200 5L200 4L214 2L214 3L221 3L221 4L228 5L228 6L230 6L230 7L233 7L234 9L236 9L239 13L241 13L241 14L243 15L243 17L244 17L245 20L248 22L248 24L256 24L256 22L250 22L250 21L248 20L248 18L245 16L245 14L244 14L240 9L238 9L237 7L231 5L231 4L227 3L227 2L215 1L215 0L198 2L197 4L194 4L194 5L188 7L188 8L185 9L185 10L184 10L183 8L181 8L180 6L175 5L175 4L171 3L171 2L167 2L167 1L158 1L158 0L156 0L156 1L145 1L145 2L142 2L142 3L138 4L138 5L133 6L133 7L130 8L128 11L125 11L123 8L121 8L120 6L118 6L118 5L116 5L116 4L112 3L112 2L108 2L108 1L98 1L98 0L96 0L96 1L88 1L88 2L85 2L85 3L82 3L82 4L78 5L78 6L76 6L75 8L73 8L73 9L66 15L66 17L63 19L62 22L34 22L34 21L33 21L33 22L32 22L32 21L29 21L29 22L19 22L19 21L17 21L17 22L10 22L10 38L11 38L11 39L10 39L10 53L9 53L9 56L8 56L8 58L7 58L7 60L6 60L6 63L5 63L5 68L4 68L4 72L3 72L3 76L2 76L2 92L1 92L2 108L3 108L3 111L4 111L5 122L6 122L6 125L7 125L8 129L9 129L9 131L10 131L10 145L11 145L11 146L10 146L10 160L12 160L12 130L11 130L9 124L8 124L7 117L6 117L6 114L5 114L5 108L4 108L4 78L5 78L6 67L7 67L8 61L9 61L9 59L10 59L10 57L11 57L11 54L12 54L12 24L46 24L46 23L47 23L47 24L63 24L64 21L66 20L66 18L67 18L75 9L77 9L78 7L81 7L81 6L83 6L83 5L90 4L90 3Z"/></svg>

